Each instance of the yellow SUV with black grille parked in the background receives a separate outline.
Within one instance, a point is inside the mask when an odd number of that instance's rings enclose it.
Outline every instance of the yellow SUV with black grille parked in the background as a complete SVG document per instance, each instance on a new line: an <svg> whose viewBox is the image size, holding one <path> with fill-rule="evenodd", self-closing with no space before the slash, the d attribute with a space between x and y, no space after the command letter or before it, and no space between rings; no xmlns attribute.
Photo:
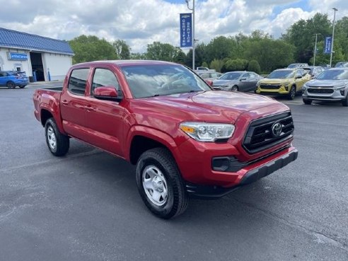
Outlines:
<svg viewBox="0 0 348 261"><path fill-rule="evenodd" d="M269 95L287 95L289 100L294 100L296 93L301 91L303 84L309 80L311 80L311 75L304 69L277 69L257 82L255 92Z"/></svg>

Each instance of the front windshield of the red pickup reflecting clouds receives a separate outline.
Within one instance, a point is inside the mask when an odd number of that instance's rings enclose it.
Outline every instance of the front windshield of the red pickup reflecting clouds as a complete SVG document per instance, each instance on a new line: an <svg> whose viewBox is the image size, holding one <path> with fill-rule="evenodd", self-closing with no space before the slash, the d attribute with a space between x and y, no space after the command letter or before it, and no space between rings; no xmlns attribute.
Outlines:
<svg viewBox="0 0 348 261"><path fill-rule="evenodd" d="M134 98L211 91L205 81L181 65L141 64L122 66L122 71Z"/></svg>

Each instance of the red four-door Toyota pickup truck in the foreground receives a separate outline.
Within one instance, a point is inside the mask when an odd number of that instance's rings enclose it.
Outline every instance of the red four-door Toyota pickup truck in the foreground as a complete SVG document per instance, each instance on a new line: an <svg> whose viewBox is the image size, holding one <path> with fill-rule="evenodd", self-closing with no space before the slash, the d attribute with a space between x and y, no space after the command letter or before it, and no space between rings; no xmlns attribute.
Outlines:
<svg viewBox="0 0 348 261"><path fill-rule="evenodd" d="M141 198L165 219L189 197L222 197L298 155L286 105L213 91L180 64L76 64L62 90L39 89L33 100L51 153L65 155L76 138L136 164Z"/></svg>

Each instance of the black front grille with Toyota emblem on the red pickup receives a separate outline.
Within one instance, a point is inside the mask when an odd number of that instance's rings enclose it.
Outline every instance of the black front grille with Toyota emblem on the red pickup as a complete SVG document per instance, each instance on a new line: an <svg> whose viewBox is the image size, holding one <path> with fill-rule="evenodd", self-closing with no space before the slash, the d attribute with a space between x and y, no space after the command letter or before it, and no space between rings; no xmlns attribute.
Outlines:
<svg viewBox="0 0 348 261"><path fill-rule="evenodd" d="M268 149L294 134L294 122L291 112L264 117L251 122L245 134L243 148L253 154Z"/></svg>

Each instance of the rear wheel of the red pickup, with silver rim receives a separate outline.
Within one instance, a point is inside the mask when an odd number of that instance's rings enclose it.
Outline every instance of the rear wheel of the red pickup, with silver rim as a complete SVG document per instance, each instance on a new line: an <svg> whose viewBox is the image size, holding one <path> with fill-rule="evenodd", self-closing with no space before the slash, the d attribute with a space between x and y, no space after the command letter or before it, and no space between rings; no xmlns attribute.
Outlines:
<svg viewBox="0 0 348 261"><path fill-rule="evenodd" d="M45 137L48 149L54 156L64 156L69 151L69 137L59 132L53 118L45 123Z"/></svg>

